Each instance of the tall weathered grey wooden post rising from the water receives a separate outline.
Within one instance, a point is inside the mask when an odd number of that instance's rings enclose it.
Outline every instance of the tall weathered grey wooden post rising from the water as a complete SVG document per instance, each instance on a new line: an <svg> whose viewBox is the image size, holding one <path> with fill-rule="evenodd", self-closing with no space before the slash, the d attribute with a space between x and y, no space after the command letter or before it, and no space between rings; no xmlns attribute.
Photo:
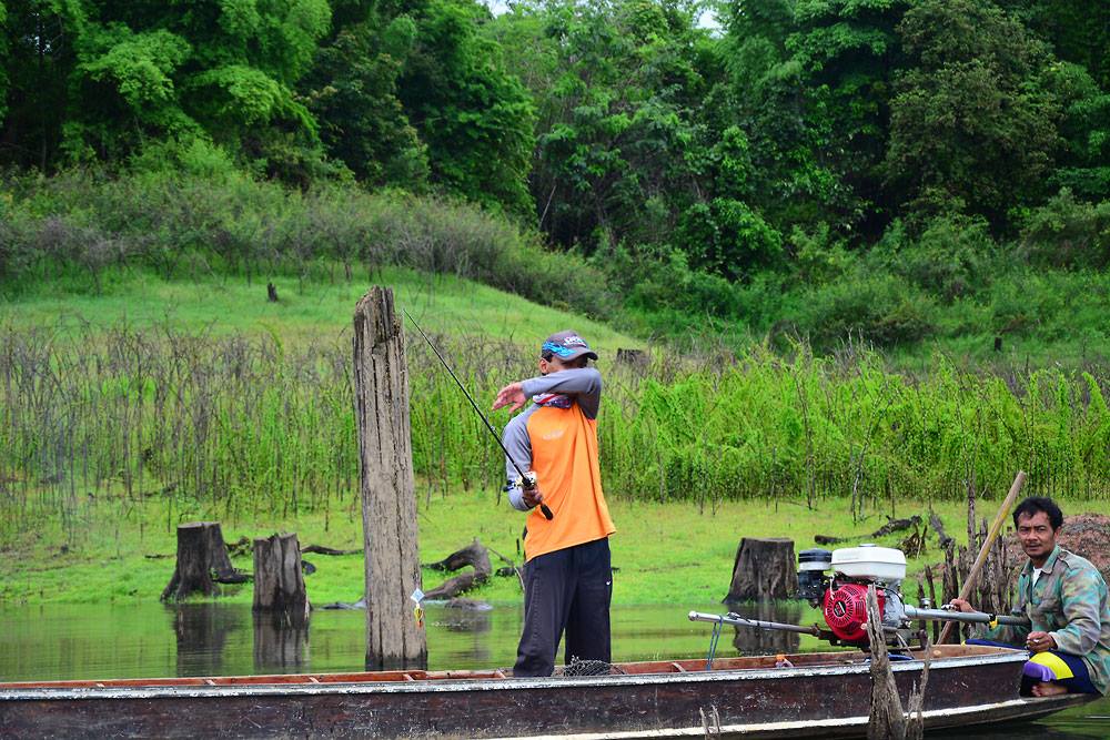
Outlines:
<svg viewBox="0 0 1110 740"><path fill-rule="evenodd" d="M408 373L393 291L354 313L354 385L366 570L366 669L424 668L427 642L410 595L421 586Z"/></svg>

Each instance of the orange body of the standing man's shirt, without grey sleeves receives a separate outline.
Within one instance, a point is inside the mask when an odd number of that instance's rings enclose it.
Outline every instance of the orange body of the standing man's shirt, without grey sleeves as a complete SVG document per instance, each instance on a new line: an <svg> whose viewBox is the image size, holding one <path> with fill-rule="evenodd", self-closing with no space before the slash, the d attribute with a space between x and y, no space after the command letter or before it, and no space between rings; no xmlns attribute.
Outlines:
<svg viewBox="0 0 1110 740"><path fill-rule="evenodd" d="M528 515L526 559L608 537L616 528L602 493L597 465L597 420L578 407L543 406L527 419L532 469L555 515L548 521L536 507Z"/></svg>

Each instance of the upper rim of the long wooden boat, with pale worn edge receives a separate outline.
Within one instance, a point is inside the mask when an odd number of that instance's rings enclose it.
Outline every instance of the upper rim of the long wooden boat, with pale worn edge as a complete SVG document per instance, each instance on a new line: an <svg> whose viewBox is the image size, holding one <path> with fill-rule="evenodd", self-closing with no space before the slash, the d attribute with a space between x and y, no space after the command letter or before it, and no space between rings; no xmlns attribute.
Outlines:
<svg viewBox="0 0 1110 740"><path fill-rule="evenodd" d="M944 656L934 658L930 662L932 670L953 670L969 668L973 666L1023 662L1027 660L1025 650L1010 650L1006 648L985 648L989 652L975 652L972 655ZM809 653L815 655L815 653ZM816 653L837 655L837 653ZM844 655L854 655L845 652ZM859 653L855 653L859 655ZM654 663L656 661L649 661ZM665 661L660 661L664 662ZM722 661L723 662L723 661ZM615 663L619 666L620 663ZM635 663L625 663L635 665ZM896 661L890 665L895 672L917 672L924 668L922 659ZM112 686L111 680L105 681L74 681L80 686L64 686L64 682L39 683L63 683L62 686L37 686L36 682L0 683L0 701L38 701L38 700L113 700L113 699L185 699L206 697L252 697L252 696L324 696L324 695L364 695L364 693L412 693L412 692L466 692L466 691L518 691L526 689L552 689L552 688L587 688L608 687L615 683L622 686L660 686L670 683L696 685L719 681L751 681L751 680L796 680L817 676L847 676L864 673L870 670L867 660L857 662L841 662L836 665L799 666L789 669L775 667L725 667L706 670L684 670L672 672L633 672L633 673L610 673L605 676L557 676L542 678L514 678L505 676L497 678L490 672L483 675L464 676L463 671L456 671L457 676L432 678L390 678L374 680L372 678L359 680L325 680L313 679L314 675L275 675L272 677L225 677L225 683L165 683L158 685L159 680L150 679L150 685L139 686ZM418 671L414 671L418 672ZM404 675L404 671L392 671ZM350 676L373 676L374 673L352 673ZM326 677L327 673L317 676ZM340 675L331 675L340 676ZM232 682L235 678L249 678L250 682ZM282 679L276 682L264 682L266 678ZM262 679L262 680L258 680ZM301 679L301 680L296 680ZM118 679L120 680L120 679ZM130 681L141 681L143 679L125 679ZM199 680L204 680L200 678Z"/></svg>

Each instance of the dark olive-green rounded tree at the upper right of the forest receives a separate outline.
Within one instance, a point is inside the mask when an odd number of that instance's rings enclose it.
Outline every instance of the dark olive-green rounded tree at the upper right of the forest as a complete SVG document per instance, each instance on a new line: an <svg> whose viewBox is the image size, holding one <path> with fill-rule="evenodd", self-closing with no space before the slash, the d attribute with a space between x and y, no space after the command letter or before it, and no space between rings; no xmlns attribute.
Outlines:
<svg viewBox="0 0 1110 740"><path fill-rule="evenodd" d="M915 67L891 103L889 182L914 212L966 207L1006 226L1059 145L1047 47L988 0L922 0L899 33Z"/></svg>

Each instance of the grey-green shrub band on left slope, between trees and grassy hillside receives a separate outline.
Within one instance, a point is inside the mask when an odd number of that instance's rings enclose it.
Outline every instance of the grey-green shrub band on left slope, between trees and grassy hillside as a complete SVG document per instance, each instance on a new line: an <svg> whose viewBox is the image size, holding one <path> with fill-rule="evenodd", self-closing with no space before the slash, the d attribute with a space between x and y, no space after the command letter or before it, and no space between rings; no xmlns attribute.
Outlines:
<svg viewBox="0 0 1110 740"><path fill-rule="evenodd" d="M353 185L302 193L241 175L211 180L158 166L160 158L184 156L202 170L218 170L218 153L151 150L151 171L117 180L88 173L9 178L3 207L11 217L0 230L0 274L20 277L42 262L48 273L50 264L59 271L83 267L98 283L100 270L120 261L167 278L196 264L249 277L304 276L332 262L350 277L355 263L397 264L594 316L615 305L599 270L577 255L545 250L534 233L473 205Z"/></svg>

